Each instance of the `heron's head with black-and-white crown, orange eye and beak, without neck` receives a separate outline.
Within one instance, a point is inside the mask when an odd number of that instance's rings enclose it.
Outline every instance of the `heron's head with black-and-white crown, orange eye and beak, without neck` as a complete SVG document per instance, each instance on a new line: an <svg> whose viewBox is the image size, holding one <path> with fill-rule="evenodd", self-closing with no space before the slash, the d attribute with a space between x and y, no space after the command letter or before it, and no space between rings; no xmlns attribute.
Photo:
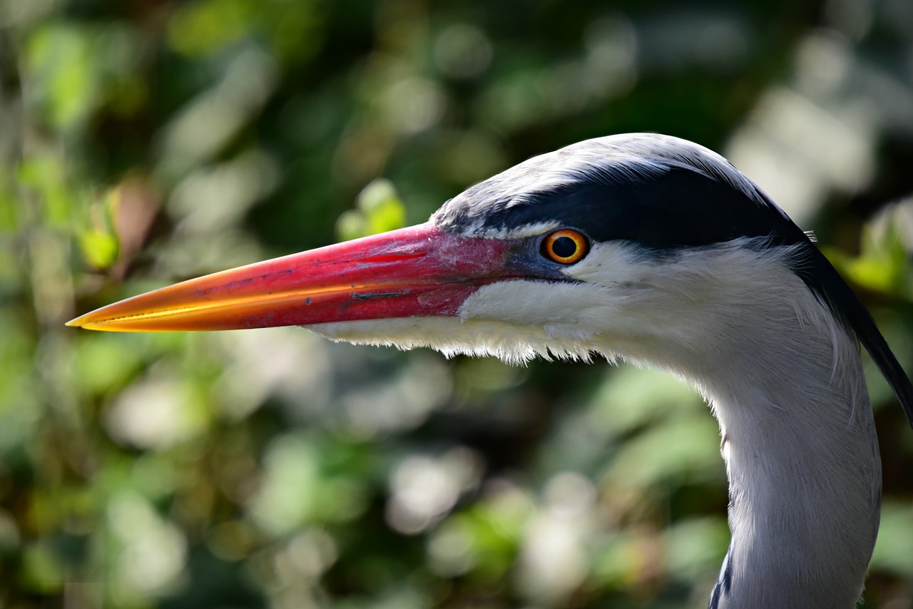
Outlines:
<svg viewBox="0 0 913 609"><path fill-rule="evenodd" d="M732 279L757 274L753 256L771 247L786 257L812 246L719 155L629 134L520 163L423 225L191 279L69 325L303 325L338 340L509 361L677 348L687 357L689 344L712 348L717 290L739 297Z"/></svg>

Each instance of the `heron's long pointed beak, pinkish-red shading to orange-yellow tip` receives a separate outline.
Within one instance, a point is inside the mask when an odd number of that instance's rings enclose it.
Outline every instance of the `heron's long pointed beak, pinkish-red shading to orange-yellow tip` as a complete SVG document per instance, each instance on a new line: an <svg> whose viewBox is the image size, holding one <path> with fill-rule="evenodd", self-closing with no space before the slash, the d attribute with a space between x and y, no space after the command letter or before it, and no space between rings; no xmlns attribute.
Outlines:
<svg viewBox="0 0 913 609"><path fill-rule="evenodd" d="M68 326L202 331L456 315L505 278L510 242L430 224L189 279L93 310Z"/></svg>

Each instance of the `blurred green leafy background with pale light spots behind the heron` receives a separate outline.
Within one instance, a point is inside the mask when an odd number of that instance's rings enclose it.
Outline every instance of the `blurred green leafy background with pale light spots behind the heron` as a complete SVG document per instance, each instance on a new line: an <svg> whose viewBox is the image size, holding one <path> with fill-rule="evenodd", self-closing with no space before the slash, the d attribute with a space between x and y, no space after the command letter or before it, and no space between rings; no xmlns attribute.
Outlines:
<svg viewBox="0 0 913 609"><path fill-rule="evenodd" d="M663 374L63 326L624 131L728 155L913 371L909 0L0 0L0 606L704 606L719 433ZM913 433L866 365L865 607L903 609Z"/></svg>

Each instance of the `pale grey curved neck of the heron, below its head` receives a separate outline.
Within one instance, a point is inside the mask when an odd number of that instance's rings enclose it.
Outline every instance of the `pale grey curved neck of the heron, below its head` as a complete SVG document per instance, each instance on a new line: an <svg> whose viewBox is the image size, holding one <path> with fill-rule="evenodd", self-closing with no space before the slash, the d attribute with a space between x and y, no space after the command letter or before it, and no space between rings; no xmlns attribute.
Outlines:
<svg viewBox="0 0 913 609"><path fill-rule="evenodd" d="M841 328L775 325L770 341L755 328L744 352L700 375L723 436L732 533L710 607L854 607L881 498L862 365Z"/></svg>

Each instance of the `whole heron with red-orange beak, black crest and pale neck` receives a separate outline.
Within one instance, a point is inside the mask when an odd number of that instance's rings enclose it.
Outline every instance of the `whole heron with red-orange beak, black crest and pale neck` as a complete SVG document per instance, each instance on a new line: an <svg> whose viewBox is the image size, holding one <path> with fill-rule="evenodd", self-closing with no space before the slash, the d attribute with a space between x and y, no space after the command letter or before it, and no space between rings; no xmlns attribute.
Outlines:
<svg viewBox="0 0 913 609"><path fill-rule="evenodd" d="M68 322L300 325L448 356L650 365L719 422L730 542L710 609L854 607L881 502L859 345L913 425L913 385L853 290L759 186L666 135L574 143L425 223L194 278Z"/></svg>

